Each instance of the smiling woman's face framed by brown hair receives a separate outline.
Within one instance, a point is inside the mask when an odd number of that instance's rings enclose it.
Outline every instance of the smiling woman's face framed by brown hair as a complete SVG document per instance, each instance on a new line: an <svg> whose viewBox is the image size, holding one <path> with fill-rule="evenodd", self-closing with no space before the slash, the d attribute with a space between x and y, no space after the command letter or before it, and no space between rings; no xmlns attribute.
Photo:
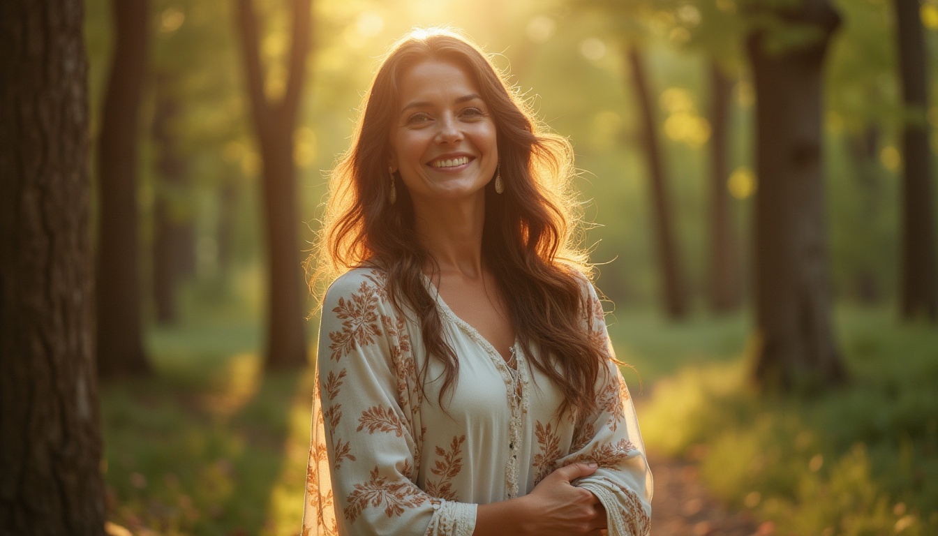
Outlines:
<svg viewBox="0 0 938 536"><path fill-rule="evenodd" d="M460 66L424 60L403 71L391 126L392 169L417 205L483 196L498 165L495 124Z"/></svg>

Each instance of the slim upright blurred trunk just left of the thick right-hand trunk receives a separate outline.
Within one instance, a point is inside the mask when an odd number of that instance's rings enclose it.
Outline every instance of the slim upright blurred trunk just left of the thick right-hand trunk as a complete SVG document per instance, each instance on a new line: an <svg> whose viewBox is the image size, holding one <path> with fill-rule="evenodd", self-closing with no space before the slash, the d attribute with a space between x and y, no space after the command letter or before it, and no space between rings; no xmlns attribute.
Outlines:
<svg viewBox="0 0 938 536"><path fill-rule="evenodd" d="M726 313L739 306L739 261L730 218L730 98L733 81L716 62L710 63L710 273L707 299L710 309Z"/></svg>

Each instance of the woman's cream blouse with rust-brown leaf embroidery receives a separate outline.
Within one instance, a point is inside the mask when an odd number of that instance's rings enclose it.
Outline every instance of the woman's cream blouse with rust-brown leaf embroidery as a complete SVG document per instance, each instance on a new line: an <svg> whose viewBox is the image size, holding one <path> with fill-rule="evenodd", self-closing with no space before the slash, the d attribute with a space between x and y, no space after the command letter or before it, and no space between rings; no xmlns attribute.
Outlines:
<svg viewBox="0 0 938 536"><path fill-rule="evenodd" d="M435 287L427 281L431 295ZM626 383L613 361L598 380L598 411L558 419L563 396L513 349L517 370L437 296L458 383L438 403L443 365L426 359L414 314L399 314L385 275L356 268L329 288L319 336L317 391L303 536L469 536L476 505L530 493L557 467L597 471L576 485L606 508L610 536L650 529L652 480ZM608 344L602 308L583 279L583 329Z"/></svg>

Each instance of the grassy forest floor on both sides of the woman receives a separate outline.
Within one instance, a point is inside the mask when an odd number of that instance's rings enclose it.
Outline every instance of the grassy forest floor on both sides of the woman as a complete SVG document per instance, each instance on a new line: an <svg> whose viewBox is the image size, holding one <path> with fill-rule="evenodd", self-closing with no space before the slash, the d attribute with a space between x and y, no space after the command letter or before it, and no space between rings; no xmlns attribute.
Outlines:
<svg viewBox="0 0 938 536"><path fill-rule="evenodd" d="M111 532L294 535L311 370L263 374L256 323L186 317L149 330L154 377L102 386ZM745 314L609 321L648 448L698 460L726 502L777 534L938 533L938 331L837 318L855 381L812 400L749 389Z"/></svg>

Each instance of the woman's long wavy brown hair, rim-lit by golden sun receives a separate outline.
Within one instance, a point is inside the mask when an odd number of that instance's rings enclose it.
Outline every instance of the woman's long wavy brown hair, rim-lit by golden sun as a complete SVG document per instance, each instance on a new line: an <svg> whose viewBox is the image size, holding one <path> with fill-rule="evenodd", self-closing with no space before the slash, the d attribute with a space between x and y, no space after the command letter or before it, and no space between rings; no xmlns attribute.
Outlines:
<svg viewBox="0 0 938 536"><path fill-rule="evenodd" d="M581 219L575 194L573 151L567 140L547 131L492 59L468 38L441 29L416 30L395 43L366 94L350 149L329 177L329 200L317 249L308 268L314 294L324 283L355 267L386 272L387 294L400 312L416 314L427 352L446 367L443 390L459 372L459 359L444 340L440 311L424 270L436 263L416 237L414 207L397 181L397 203L387 202L390 132L399 103L401 74L436 59L466 69L488 104L495 124L505 192L493 183L485 191L482 255L492 269L527 357L564 394L559 408L591 411L594 388L610 359L604 347L582 329L583 277L592 266L574 231ZM401 307L406 305L407 307ZM533 354L533 355L532 355ZM427 362L421 375L426 381Z"/></svg>

